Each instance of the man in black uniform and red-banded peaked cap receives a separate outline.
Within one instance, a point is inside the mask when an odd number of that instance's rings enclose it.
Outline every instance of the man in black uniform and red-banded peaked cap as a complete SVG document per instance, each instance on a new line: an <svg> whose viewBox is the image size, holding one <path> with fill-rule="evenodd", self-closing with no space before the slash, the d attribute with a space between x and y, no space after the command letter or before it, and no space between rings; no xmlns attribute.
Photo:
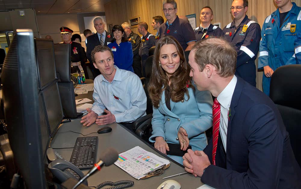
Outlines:
<svg viewBox="0 0 301 189"><path fill-rule="evenodd" d="M78 71L81 73L84 70L85 76L88 76L87 66L85 64L86 58L82 50L82 46L79 43L71 41L73 30L68 27L61 27L61 36L63 37L63 43L71 44L71 73Z"/></svg>

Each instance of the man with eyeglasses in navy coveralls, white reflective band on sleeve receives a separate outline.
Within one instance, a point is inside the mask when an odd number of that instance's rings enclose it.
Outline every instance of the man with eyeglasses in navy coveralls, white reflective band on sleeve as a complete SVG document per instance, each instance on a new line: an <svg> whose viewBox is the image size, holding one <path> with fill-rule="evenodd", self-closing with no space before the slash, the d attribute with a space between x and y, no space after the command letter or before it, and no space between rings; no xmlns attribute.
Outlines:
<svg viewBox="0 0 301 189"><path fill-rule="evenodd" d="M255 59L259 50L260 26L248 18L247 0L232 1L233 22L224 27L222 35L231 42L237 51L235 75L256 87Z"/></svg>

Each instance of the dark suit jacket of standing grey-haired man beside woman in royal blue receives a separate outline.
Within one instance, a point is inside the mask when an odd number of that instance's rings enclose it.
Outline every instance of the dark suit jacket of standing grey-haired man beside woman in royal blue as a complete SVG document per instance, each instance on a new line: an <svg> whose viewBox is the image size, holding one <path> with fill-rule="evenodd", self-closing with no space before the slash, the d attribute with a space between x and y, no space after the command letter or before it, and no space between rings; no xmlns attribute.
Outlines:
<svg viewBox="0 0 301 189"><path fill-rule="evenodd" d="M110 38L109 38L110 37ZM104 40L104 46L108 46L108 43L112 41L113 36L110 35L109 32L106 31L106 39ZM94 49L95 46L100 45L100 41L98 38L98 34L90 35L87 38L87 58L90 61L91 64L93 64L91 59L91 52Z"/></svg>

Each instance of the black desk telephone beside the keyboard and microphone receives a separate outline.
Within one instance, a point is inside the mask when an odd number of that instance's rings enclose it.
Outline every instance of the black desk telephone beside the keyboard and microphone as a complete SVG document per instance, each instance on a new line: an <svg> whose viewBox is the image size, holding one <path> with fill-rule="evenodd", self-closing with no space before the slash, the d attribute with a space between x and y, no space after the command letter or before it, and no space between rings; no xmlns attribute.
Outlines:
<svg viewBox="0 0 301 189"><path fill-rule="evenodd" d="M51 150L53 150L53 149L51 149ZM63 183L65 181L67 181L69 178L74 178L76 180L79 180L82 177L84 177L84 173L82 173L82 171L79 170L79 168L77 168L75 165L73 165L69 161L65 160L57 152L54 151L54 154L57 157L57 159L51 161L51 163L48 165L48 168L51 171L51 173L53 174L53 176L55 176L59 181L61 181ZM48 158L48 159L50 159L50 158ZM85 184L88 186L88 181L85 180L84 182L82 182L82 184Z"/></svg>

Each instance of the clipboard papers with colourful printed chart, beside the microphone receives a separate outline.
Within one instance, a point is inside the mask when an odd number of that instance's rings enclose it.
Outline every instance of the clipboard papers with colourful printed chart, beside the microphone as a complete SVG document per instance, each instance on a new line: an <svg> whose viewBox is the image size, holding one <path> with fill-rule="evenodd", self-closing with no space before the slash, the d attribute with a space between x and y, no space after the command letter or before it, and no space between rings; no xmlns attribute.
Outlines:
<svg viewBox="0 0 301 189"><path fill-rule="evenodd" d="M147 173L162 167L164 164L168 165L170 162L136 146L126 152L120 153L118 160L114 164L139 180L146 176Z"/></svg>

